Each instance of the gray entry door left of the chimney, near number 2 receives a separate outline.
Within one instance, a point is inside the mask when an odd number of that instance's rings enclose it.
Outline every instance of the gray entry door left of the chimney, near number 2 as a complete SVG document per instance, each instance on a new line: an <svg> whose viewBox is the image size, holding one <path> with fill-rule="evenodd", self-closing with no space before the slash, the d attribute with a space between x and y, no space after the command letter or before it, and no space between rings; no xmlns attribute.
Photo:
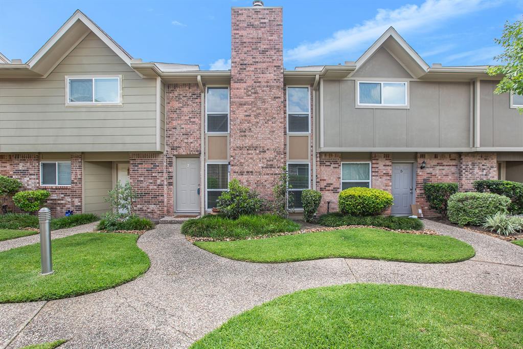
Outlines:
<svg viewBox="0 0 523 349"><path fill-rule="evenodd" d="M178 157L176 159L176 211L200 211L200 159Z"/></svg>

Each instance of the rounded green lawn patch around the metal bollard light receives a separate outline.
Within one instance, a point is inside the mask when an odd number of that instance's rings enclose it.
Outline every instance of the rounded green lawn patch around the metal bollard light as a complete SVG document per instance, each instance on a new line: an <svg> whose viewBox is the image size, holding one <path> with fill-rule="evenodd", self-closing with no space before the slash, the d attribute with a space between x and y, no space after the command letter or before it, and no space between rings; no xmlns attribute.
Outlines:
<svg viewBox="0 0 523 349"><path fill-rule="evenodd" d="M52 241L54 274L40 275L40 244L0 253L0 302L60 299L111 288L145 273L138 235L81 233Z"/></svg>

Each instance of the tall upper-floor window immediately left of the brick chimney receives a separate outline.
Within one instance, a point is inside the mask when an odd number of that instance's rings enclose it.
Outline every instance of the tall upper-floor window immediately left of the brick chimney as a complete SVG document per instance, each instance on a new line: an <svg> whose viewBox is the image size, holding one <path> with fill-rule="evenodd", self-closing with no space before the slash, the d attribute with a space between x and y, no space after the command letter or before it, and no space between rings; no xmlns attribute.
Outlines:
<svg viewBox="0 0 523 349"><path fill-rule="evenodd" d="M229 86L208 86L205 94L207 133L229 132Z"/></svg>

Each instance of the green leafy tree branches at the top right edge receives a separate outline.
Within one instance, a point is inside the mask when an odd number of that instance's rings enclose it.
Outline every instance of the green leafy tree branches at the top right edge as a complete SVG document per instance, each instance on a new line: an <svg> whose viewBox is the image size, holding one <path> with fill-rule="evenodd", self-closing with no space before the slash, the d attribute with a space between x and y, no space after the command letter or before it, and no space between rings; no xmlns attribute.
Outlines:
<svg viewBox="0 0 523 349"><path fill-rule="evenodd" d="M494 93L514 93L523 95L523 20L517 20L510 24L505 22L501 39L494 39L501 45L504 52L494 57L503 65L489 66L486 70L488 75L495 76L503 74L503 78L497 84ZM519 112L523 112L519 108Z"/></svg>

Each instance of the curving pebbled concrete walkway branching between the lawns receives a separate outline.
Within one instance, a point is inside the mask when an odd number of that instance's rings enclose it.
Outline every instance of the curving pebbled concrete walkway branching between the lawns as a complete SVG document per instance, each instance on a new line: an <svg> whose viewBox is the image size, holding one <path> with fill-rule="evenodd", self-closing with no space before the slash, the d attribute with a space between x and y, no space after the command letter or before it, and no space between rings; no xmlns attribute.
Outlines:
<svg viewBox="0 0 523 349"><path fill-rule="evenodd" d="M230 317L290 292L354 282L441 287L523 299L523 249L426 221L474 246L472 260L416 264L333 258L282 264L231 261L161 224L138 245L151 269L128 284L49 302L0 304L0 348L71 339L64 348L185 348ZM61 347L61 348L62 348Z"/></svg>

